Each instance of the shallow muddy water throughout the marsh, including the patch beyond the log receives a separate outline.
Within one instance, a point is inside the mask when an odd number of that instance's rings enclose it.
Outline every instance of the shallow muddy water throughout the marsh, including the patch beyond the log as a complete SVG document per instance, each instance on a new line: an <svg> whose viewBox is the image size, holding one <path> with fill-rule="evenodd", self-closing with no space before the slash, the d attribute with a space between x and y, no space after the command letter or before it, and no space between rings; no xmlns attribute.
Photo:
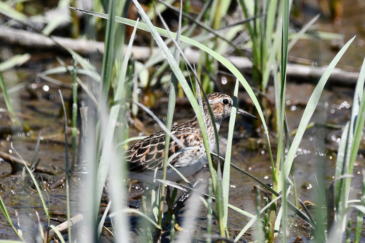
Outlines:
<svg viewBox="0 0 365 243"><path fill-rule="evenodd" d="M304 22L307 22L311 16L314 16L318 12L316 2L317 1L306 1L306 3L303 4L303 13L305 14L302 15L302 18L304 19ZM321 17L320 30L336 30L343 33L344 41L352 38L355 33L358 35L356 43L349 48L339 63L342 67L357 71L364 58L365 34L363 15L358 15L356 13L363 13L364 11L362 11L362 9L365 9L365 4L364 1L361 0L346 0L344 5L349 7L345 8L341 25L333 27L330 20ZM351 6L356 6L356 9L350 8ZM313 63L313 65L324 65L328 64L335 53L337 53L337 46L338 43L334 45L331 40L300 40L289 55L292 57L306 58L310 63ZM12 49L9 47L1 47L1 59L3 59L5 55L4 50L10 50L10 52L14 52L14 54L16 54L17 51L23 51L18 48ZM11 55L11 53L9 55ZM64 59L67 64L70 64L71 60L69 57L61 56L61 58ZM65 172L65 126L58 89L61 89L64 98L69 100L71 97L70 84L72 82L72 77L71 75L52 76L58 80L62 80L68 88L59 87L58 85L35 77L38 72L48 70L55 66L58 66L58 63L54 62L54 54L42 53L40 55L33 55L32 59L27 62L26 65L17 68L16 71L11 70L3 73L4 78L10 84L21 84L22 82L29 80L26 86L24 85L20 90L11 95L13 95L14 104L18 107L17 110L20 111L19 117L22 118L30 129L14 129L12 130L12 133L9 134L6 132L6 128L8 128L9 125L8 116L5 113L0 113L0 127L2 128L0 150L1 152L11 152L10 143L12 142L14 148L22 158L26 161L31 161L38 134L41 132L42 142L37 158L41 158L39 167L44 172L36 173L37 179L38 182L43 180L46 184L50 199L51 217L65 219L66 195L64 185L61 183L53 189L51 187L52 185L59 183L60 180L64 180L63 176ZM223 85L223 89L226 93L230 94L232 83L228 82L227 85ZM300 117L303 114L313 89L314 85L300 83L300 81L288 83L286 111L289 130L294 130L299 125ZM157 93L160 91L161 90L157 90ZM164 93L164 91L161 91L161 93ZM270 87L268 97L272 99L273 102L272 94L273 88ZM166 98L166 94L164 95ZM243 91L240 91L238 98L241 101L245 100L245 109L251 109L250 101ZM330 123L344 126L349 118L352 99L352 88L339 88L333 86L328 87L328 89L323 91L322 98L315 111L314 117L311 120L311 122L316 122L316 125L309 128L304 134L295 160L297 192L302 201L316 201L317 182L315 176L319 178L321 174L320 171L323 170L323 176L326 179L324 182L325 188L327 188L333 180L337 148L342 129L328 128L323 124ZM160 105L155 106L154 112L163 117L166 114L166 103L163 102L163 99L160 101ZM244 105L243 103L240 104L242 106ZM0 101L0 107L5 107L3 101ZM186 109L186 104L183 102L177 103L177 111L175 116L177 122L184 121L193 116L192 111ZM252 110L248 111L252 112ZM140 113L138 117L146 126L147 131L145 133L153 133L154 131L159 130L159 128L155 126L155 122L146 114ZM226 137L227 128L228 120L222 123L220 135ZM271 183L270 159L266 139L264 136L257 137L255 133L260 133L261 131L253 131L253 129L254 127L249 119L243 119L241 117L236 119L232 162L265 183ZM132 126L130 129L130 136L138 136L139 133L140 131ZM275 148L276 137L274 134L271 134L271 138L272 146ZM361 170L365 167L364 151L365 144L363 139L360 144L359 156L357 157L356 165L354 167L350 199L359 199L361 196L363 177ZM275 157L275 149L273 149L273 153ZM69 159L71 159L71 156L69 156ZM0 161L1 175L8 174L10 171L10 165L7 162ZM8 212L14 223L17 222L15 210L18 212L19 225L23 231L24 239L30 242L35 240L34 235L38 231L38 219L35 211L39 213L43 228L46 228L46 221L38 194L31 191L28 186L23 186L24 183L27 183L26 185L30 183L30 178L26 178L27 182L23 182L20 177L21 174L21 166L19 166L18 171L14 175L0 178L0 195L7 206ZM202 174L203 177L207 176L202 172L200 172L200 174ZM258 184L231 168L230 203L254 214L256 207L254 185ZM34 189L34 185L31 185L30 187ZM85 205L80 203L81 196L78 187L85 187L82 176L72 177L72 215L83 212L85 207ZM204 186L202 188L204 188ZM134 188L133 193L137 194L137 191L140 192L141 189ZM261 196L266 197L265 191ZM289 195L289 200L293 201L292 194ZM136 204L136 207L140 207L140 205L137 205L140 203L138 200L133 202ZM264 200L262 200L261 204L264 204ZM280 204L281 202L279 202L279 205ZM192 209L189 208L192 206L189 205L199 205L197 208L198 212L192 215L196 216L196 219L194 219L196 226L192 229L194 235L192 242L203 242L204 236L202 236L202 234L205 234L207 225L206 209L196 198L189 199L186 203L186 207L181 210L180 214L180 222L183 227L185 227L184 222L187 221L185 219L189 219L189 215L192 214ZM315 207L310 209L310 212L313 214L315 213L314 208ZM231 235L237 235L242 227L249 221L249 218L232 210L229 210L228 213L228 228ZM288 214L290 232L288 242L294 242L297 236L303 237L304 242L312 240L313 234L310 227L297 216L293 215L290 210L288 211ZM351 212L353 224L356 222L356 216L356 211ZM1 222L5 222L3 215L0 215L0 220ZM213 219L213 221L215 221L215 219ZM136 221L136 217L131 216L131 223L135 222L138 222ZM139 242L139 238L135 235L136 228L138 230L138 227L139 226L136 226L131 233L134 242ZM363 228L365 228L364 223ZM185 227L185 229L187 228ZM82 228L78 231L81 235L83 232ZM219 233L218 224L215 224L214 222L213 232L214 234ZM103 232L103 242L111 241L111 236L107 234L107 232ZM184 237L184 234L184 232L177 233L178 237ZM0 227L0 235L1 239L17 239L10 227ZM254 235L254 231L249 231L249 235L243 236L241 241L250 242L255 239ZM280 236L281 235L279 235L278 239L280 239ZM361 240L362 242L365 242L364 232L362 232Z"/></svg>

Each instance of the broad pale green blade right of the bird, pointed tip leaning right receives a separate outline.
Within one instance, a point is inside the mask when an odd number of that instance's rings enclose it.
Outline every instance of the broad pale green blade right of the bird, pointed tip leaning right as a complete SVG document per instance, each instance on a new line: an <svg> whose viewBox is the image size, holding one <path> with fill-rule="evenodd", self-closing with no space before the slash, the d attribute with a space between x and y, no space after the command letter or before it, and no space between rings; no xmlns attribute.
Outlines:
<svg viewBox="0 0 365 243"><path fill-rule="evenodd" d="M326 71L324 71L322 77L320 78L320 80L318 82L318 85L316 86L315 90L313 91L313 93L308 101L307 107L304 110L303 117L300 121L297 133L293 139L292 146L290 147L289 152L287 154L287 158L285 159L285 161L283 163L283 166L282 166L283 169L280 172L280 173L284 173L285 177L287 177L289 175L296 151L299 148L301 138L303 137L303 134L309 123L309 120L312 117L312 114L314 113L314 110L317 106L317 103L319 101L319 97L320 97L320 94L322 93L324 85L326 84L328 77L330 77L330 74L331 74L332 70L334 69L334 67L336 66L336 64L338 63L339 59L342 57L343 53L345 53L345 51L350 46L350 44L352 43L354 38L355 37L350 39L345 44L345 46L342 47L342 49L338 52L338 54L335 56L335 58L328 65L328 67L326 68ZM279 175L279 178L281 178L280 175ZM277 192L280 192L282 189L283 189L283 181L278 181Z"/></svg>

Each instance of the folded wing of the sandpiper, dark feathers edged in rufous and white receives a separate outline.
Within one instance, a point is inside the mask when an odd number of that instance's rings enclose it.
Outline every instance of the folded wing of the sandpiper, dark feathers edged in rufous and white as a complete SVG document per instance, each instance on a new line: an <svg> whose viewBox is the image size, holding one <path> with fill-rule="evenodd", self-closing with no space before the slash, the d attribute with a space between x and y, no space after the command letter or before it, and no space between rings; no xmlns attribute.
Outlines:
<svg viewBox="0 0 365 243"><path fill-rule="evenodd" d="M169 157L178 152L182 145L186 146L189 135L188 133L175 133L174 136L180 142L170 138ZM165 136L165 132L161 130L128 148L124 153L124 158L128 163L128 170L130 172L145 172L155 168L162 169L164 166ZM170 164L174 165L182 154L176 156Z"/></svg>

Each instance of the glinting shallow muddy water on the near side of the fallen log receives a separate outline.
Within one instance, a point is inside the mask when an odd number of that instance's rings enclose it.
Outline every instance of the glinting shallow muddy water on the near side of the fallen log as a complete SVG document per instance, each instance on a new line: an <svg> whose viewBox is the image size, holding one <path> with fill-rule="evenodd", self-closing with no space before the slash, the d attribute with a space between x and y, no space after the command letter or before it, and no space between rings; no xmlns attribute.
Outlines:
<svg viewBox="0 0 365 243"><path fill-rule="evenodd" d="M64 124L63 118L59 117L60 113L60 100L57 97L57 87L53 87L50 84L50 89L47 93L44 92L43 81L37 83L35 91L42 93L42 98L32 97L28 94L26 89L22 89L18 94L20 97L19 106L22 107L22 114L24 115L24 121L29 126L39 125L38 129L32 130L33 132L27 135L22 134L22 131L17 131L12 136L7 136L1 139L1 151L8 152L11 150L10 142L13 142L14 148L24 158L24 160L30 161L32 159L36 139L38 132L41 131L43 140L39 148L38 157L41 157L39 167L44 171L50 171L53 175L47 173L36 173L38 181L41 182L41 177L45 181L47 191L50 198L50 211L52 213L61 213L61 217L56 215L54 217L65 219L62 216L66 213L66 195L63 185L58 186L54 189L50 189L50 186L58 182L64 176L65 171L65 145L64 145ZM37 90L38 89L38 90ZM314 89L314 85L310 84L296 84L289 83L287 89L287 117L289 129L293 130L297 127L300 121L300 117L306 106L306 102ZM43 90L43 91L42 91ZM268 96L270 97L270 90ZM300 95L297 91L300 90ZM38 92L39 91L39 92ZM69 90L64 90L65 97L70 95ZM54 96L54 99L46 99L44 97ZM345 125L351 109L351 99L353 95L352 89L338 88L333 90L324 90L321 102L311 121L317 122L318 125L310 128L305 133L301 145L297 152L295 160L295 176L298 196L302 201L316 201L316 178L320 176L318 174L320 169L324 169L324 177L326 178L325 187L328 187L332 181L336 152L338 147L339 138L341 136L341 129L331 129L323 126L324 122L343 126ZM239 99L245 99L245 95L240 95ZM246 102L249 103L247 100ZM165 107L161 105L160 107ZM192 113L190 110L180 109L178 120L187 119L191 117ZM165 108L155 110L156 114L164 114ZM186 112L185 112L186 111ZM30 117L30 118L26 118ZM185 117L185 118L182 118ZM143 121L150 121L149 117L142 115ZM234 133L234 145L233 145L233 157L232 163L239 166L243 170L249 172L251 175L264 181L265 183L271 183L271 169L269 153L266 146L266 140L264 137L253 138L251 137L253 132L253 126L251 121L246 118L237 117L236 129ZM150 123L150 124L148 124ZM158 130L158 127L154 126L154 121L145 122L149 132ZM7 117L1 119L1 125L7 125ZM225 137L227 134L228 120L224 121L221 126L220 135ZM136 136L136 131L131 129L131 136ZM271 135L272 146L275 148L275 137ZM354 168L354 177L352 179L352 187L350 191L351 199L359 199L361 192L361 181L362 173L361 168L365 166L365 160L362 154L364 151L364 141L360 145L360 154L357 158L357 165ZM273 149L274 157L276 150ZM69 157L71 159L71 157ZM1 171L4 173L9 171L9 165L5 162L0 163ZM5 168L5 169L4 169ZM201 172L200 172L201 173ZM24 238L27 240L34 240L34 234L38 230L37 216L35 211L39 212L41 222L43 226L46 226L45 215L42 209L42 204L39 200L38 194L31 192L27 187L23 187L23 182L20 178L21 170L15 175L1 178L1 196L7 205L9 213L12 215L12 219L16 222L14 217L14 211L19 213L20 226L24 230ZM195 176L193 176L195 177ZM191 180L193 180L191 177ZM203 173L203 177L207 177L207 174ZM29 180L26 179L26 180ZM239 207L247 212L255 212L255 190L254 185L258 185L247 176L242 175L240 172L231 168L231 187L230 187L230 203ZM82 212L83 206L78 201L77 194L79 191L77 187L84 187L84 183L78 176L72 177L71 195L73 200L72 208L73 213ZM34 186L33 186L34 188ZM204 186L203 186L204 188ZM139 191L139 189L137 190ZM134 193L135 190L134 190ZM266 197L263 191L262 197ZM289 196L289 200L293 200L292 194ZM189 208L189 202L195 202L192 204L200 205L198 208L198 214L196 223L197 225L193 228L193 242L201 242L202 239L199 235L205 233L206 228L206 209L201 205L197 199L189 199L186 203L186 207L181 210L180 222L184 225L185 219L191 213ZM139 204L138 201L135 203ZM200 203L200 204L198 204ZM264 200L262 200L263 206ZM280 205L279 201L279 205ZM137 205L136 205L137 206ZM140 207L139 205L137 207ZM311 209L314 213L314 210ZM304 237L303 239L311 240L313 235L310 227L302 222L297 216L293 215L289 210L289 242L293 242L297 236ZM351 214L353 222L355 222L357 212ZM229 210L228 216L228 228L232 232L232 235L237 235L241 230L242 225L245 225L249 221L249 218L242 216L232 210ZM215 221L215 219L213 220ZM214 222L213 222L214 223ZM365 226L365 225L364 225ZM184 227L184 226L183 226ZM213 232L218 234L218 225L213 224ZM3 236L7 239L16 239L16 236L9 227L3 227L1 230ZM249 231L250 235L243 236L242 240L250 241L255 239L253 235L255 232ZM178 233L178 237L180 234ZM132 234L134 235L134 234ZM136 237L136 236L135 236ZM182 236L181 236L182 237ZM107 240L108 237L105 238ZM138 242L138 237L134 238L135 242Z"/></svg>

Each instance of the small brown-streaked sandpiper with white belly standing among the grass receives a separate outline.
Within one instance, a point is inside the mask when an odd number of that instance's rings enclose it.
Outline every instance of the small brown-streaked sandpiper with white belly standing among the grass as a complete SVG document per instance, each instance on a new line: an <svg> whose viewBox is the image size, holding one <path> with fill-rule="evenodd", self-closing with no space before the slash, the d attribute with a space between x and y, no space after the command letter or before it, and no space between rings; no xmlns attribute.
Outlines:
<svg viewBox="0 0 365 243"><path fill-rule="evenodd" d="M220 123L231 114L233 100L228 95L218 92L208 94L207 100L218 132ZM203 109L210 151L213 151L216 144L214 127L205 99L203 99ZM237 114L257 119L254 115L239 108L237 108ZM208 160L197 117L195 116L189 121L173 126L171 134L175 136L175 140L170 138L169 158L182 148L197 147L202 149L187 149L173 158L170 164L185 177L193 175L203 168ZM165 136L164 130L158 131L135 143L124 152L124 157L128 163L130 179L152 183L156 168L155 178L161 178L164 164ZM180 179L181 177L176 171L168 166L166 180L177 181Z"/></svg>

